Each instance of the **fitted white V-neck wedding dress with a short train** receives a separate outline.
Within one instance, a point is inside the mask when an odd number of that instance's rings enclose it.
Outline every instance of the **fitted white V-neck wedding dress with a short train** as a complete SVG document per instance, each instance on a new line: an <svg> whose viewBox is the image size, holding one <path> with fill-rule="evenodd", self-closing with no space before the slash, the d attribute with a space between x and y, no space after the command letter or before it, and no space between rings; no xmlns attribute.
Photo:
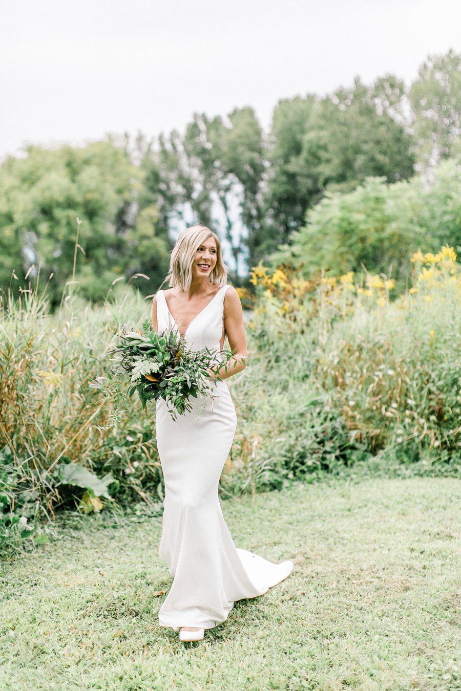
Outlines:
<svg viewBox="0 0 461 691"><path fill-rule="evenodd" d="M220 287L191 321L185 338L189 348L220 351L224 296ZM178 328L164 293L157 295L158 332ZM163 399L156 405L157 447L164 477L164 513L160 557L173 583L159 612L160 626L211 629L226 620L235 600L262 595L286 578L291 561L274 564L237 549L218 500L218 482L236 429L236 411L225 380L216 381L211 410L197 419L203 397L191 398L191 412L173 422Z"/></svg>

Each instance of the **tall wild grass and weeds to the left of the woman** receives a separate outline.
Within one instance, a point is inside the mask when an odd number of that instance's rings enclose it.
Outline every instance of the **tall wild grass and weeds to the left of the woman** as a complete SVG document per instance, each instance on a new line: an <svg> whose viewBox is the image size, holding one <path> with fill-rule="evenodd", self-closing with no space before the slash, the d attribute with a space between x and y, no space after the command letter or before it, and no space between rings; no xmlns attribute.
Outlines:
<svg viewBox="0 0 461 691"><path fill-rule="evenodd" d="M109 426L113 410L91 388L111 366L109 350L122 325L145 319L149 306L133 290L93 307L77 295L55 314L37 294L9 294L1 303L0 498L3 536L20 515L52 517L59 507L80 509L82 488L60 479L68 463L111 477L111 499L151 502L144 480L158 487L155 416L136 399L124 421ZM136 468L140 468L136 471ZM8 530L10 529L10 530ZM19 526L16 527L16 531ZM1 531L0 531L1 541Z"/></svg>

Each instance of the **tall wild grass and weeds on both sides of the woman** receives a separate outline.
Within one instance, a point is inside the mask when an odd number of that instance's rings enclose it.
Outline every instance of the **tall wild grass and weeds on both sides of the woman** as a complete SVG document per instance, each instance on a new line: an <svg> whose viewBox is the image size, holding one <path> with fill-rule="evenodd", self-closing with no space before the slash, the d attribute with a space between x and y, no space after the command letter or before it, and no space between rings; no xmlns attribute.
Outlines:
<svg viewBox="0 0 461 691"><path fill-rule="evenodd" d="M281 488L369 457L458 472L460 265L449 248L413 260L413 287L395 300L384 276L307 281L255 267L250 366L227 380L238 428L224 494ZM111 366L122 325L136 327L149 311L126 287L98 307L72 294L55 314L37 292L1 302L0 542L28 536L27 523L64 507L158 506L153 406L131 399L113 428L111 404L91 387ZM71 480L69 464L110 493Z"/></svg>

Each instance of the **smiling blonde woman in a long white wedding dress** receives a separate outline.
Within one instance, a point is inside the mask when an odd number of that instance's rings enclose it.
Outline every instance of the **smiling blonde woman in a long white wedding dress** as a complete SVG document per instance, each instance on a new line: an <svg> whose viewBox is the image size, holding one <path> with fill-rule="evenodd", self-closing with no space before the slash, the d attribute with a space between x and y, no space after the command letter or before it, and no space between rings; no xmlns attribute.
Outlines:
<svg viewBox="0 0 461 691"><path fill-rule="evenodd" d="M224 381L247 361L240 299L227 285L218 236L205 226L182 231L170 258L169 290L153 299L157 332L169 326L193 350L223 350L227 336L234 356L209 375L215 399L191 399L193 409L173 421L163 399L156 406L157 447L164 477L160 557L173 583L159 612L160 626L198 641L205 629L226 620L235 600L262 595L286 578L291 561L274 564L237 549L218 500L218 483L236 429L236 410ZM200 415L197 415L197 407Z"/></svg>

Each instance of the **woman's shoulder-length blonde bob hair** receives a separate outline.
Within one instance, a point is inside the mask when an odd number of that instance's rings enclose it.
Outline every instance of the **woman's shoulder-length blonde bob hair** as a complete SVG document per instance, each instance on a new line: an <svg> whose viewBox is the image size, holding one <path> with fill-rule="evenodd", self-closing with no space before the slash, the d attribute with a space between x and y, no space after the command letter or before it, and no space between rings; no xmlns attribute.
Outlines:
<svg viewBox="0 0 461 691"><path fill-rule="evenodd" d="M171 250L169 264L169 286L176 288L180 286L182 290L189 290L192 281L192 263L194 262L198 247L203 240L214 238L216 242L216 264L214 269L207 276L207 283L227 283L227 267L223 262L221 243L211 229L206 225L191 225L180 233L174 247Z"/></svg>

